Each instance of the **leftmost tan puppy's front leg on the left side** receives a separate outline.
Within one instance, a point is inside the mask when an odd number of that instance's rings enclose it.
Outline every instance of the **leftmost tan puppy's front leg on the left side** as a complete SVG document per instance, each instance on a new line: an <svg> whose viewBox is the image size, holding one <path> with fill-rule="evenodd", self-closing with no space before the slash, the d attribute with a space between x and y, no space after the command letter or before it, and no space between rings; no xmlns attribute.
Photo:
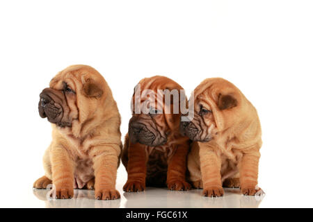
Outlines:
<svg viewBox="0 0 313 222"><path fill-rule="evenodd" d="M51 147L52 182L56 186L56 198L74 196L74 164L63 146Z"/></svg>

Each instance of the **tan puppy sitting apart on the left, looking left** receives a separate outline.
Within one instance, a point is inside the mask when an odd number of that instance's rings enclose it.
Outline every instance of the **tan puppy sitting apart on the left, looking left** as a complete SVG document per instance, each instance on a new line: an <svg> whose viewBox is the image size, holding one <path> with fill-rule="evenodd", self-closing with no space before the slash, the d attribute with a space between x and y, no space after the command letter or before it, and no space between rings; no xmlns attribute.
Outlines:
<svg viewBox="0 0 313 222"><path fill-rule="evenodd" d="M67 67L42 91L38 109L52 123L52 142L43 160L45 176L33 187L53 182L56 198L72 198L74 188L95 185L95 198L120 198L120 114L101 74L86 65Z"/></svg>

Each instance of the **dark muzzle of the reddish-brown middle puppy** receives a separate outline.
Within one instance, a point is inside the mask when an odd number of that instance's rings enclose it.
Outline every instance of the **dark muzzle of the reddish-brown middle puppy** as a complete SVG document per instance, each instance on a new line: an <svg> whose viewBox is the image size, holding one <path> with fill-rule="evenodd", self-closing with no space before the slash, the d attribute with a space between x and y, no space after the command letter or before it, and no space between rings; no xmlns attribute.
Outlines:
<svg viewBox="0 0 313 222"><path fill-rule="evenodd" d="M167 139L152 133L143 123L129 123L129 139L132 144L143 144L146 146L162 146Z"/></svg>

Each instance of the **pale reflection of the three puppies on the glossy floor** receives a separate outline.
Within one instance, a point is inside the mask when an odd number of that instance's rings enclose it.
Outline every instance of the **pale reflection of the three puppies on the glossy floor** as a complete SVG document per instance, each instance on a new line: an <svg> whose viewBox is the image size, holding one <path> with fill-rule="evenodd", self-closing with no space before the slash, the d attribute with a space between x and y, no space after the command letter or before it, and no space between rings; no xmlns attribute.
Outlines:
<svg viewBox="0 0 313 222"><path fill-rule="evenodd" d="M220 198L207 198L201 196L202 190L169 191L148 187L139 193L123 193L120 200L95 200L94 191L76 189L74 198L69 200L51 200L47 198L49 190L34 189L33 194L42 201L46 207L258 207L265 195L243 196L239 189L225 189L225 196Z"/></svg>

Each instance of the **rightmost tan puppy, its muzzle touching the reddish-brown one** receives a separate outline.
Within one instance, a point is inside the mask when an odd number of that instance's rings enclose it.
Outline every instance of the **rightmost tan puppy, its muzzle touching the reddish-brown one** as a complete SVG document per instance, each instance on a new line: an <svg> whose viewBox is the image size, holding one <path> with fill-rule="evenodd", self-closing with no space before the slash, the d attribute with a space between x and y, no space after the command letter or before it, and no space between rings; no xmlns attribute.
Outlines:
<svg viewBox="0 0 313 222"><path fill-rule="evenodd" d="M255 195L262 146L257 110L241 91L223 78L208 78L194 91L194 118L181 122L191 138L188 171L204 196L223 196L225 187Z"/></svg>

